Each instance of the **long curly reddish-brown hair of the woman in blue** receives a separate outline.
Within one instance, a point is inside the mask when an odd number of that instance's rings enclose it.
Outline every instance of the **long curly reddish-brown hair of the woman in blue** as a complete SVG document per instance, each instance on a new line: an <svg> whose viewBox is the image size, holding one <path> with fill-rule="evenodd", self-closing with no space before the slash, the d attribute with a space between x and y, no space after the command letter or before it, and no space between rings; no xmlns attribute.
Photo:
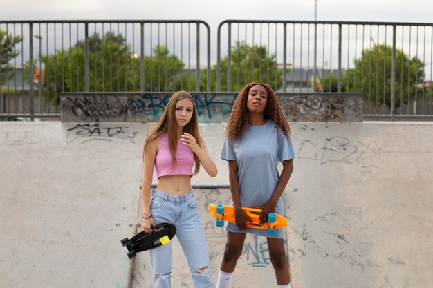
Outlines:
<svg viewBox="0 0 433 288"><path fill-rule="evenodd" d="M246 86L242 88L241 92L239 92L239 95L237 95L236 99L234 100L232 112L230 113L230 117L228 117L227 126L225 126L225 136L230 141L241 139L243 131L246 131L248 128L249 117L246 102L250 88L256 85L263 86L268 92L268 100L264 110L264 117L266 119L272 119L275 124L275 128L281 128L286 137L288 137L291 133L290 126L288 126L287 119L284 117L281 105L279 104L274 90L270 88L268 84L252 82L246 84Z"/></svg>

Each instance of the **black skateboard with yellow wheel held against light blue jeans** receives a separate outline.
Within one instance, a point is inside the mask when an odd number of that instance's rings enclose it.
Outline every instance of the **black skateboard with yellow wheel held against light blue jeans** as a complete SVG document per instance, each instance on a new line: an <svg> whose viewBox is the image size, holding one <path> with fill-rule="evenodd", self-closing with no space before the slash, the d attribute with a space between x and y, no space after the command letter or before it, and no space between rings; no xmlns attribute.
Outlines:
<svg viewBox="0 0 433 288"><path fill-rule="evenodd" d="M170 242L170 239L176 234L176 226L169 223L159 223L154 225L153 232L147 233L141 231L133 238L124 238L120 240L123 246L128 249L127 256L129 259L136 256L136 253L154 249Z"/></svg>

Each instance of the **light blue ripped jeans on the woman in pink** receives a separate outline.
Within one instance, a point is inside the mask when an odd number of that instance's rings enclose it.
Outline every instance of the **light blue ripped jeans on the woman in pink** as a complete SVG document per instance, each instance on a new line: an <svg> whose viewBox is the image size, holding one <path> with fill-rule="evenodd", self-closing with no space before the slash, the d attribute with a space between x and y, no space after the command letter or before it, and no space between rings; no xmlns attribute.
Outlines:
<svg viewBox="0 0 433 288"><path fill-rule="evenodd" d="M168 222L176 226L176 237L188 260L195 287L214 288L205 230L194 191L176 196L153 189L150 210L155 223ZM154 269L154 288L170 288L172 242L151 249L150 260ZM203 267L208 269L199 270Z"/></svg>

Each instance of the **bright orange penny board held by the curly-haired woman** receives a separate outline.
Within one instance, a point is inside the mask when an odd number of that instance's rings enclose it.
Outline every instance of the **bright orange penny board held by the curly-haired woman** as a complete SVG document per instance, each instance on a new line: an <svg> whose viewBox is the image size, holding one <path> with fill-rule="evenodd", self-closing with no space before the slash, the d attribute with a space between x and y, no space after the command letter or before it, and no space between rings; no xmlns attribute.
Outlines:
<svg viewBox="0 0 433 288"><path fill-rule="evenodd" d="M246 226L250 228L255 229L268 229L270 227L273 229L281 229L283 227L286 227L287 220L282 215L277 214L277 221L270 223L266 222L264 224L260 224L259 215L261 213L261 209L256 208L248 208L248 207L242 207L241 208L243 212L245 212L248 216L250 216L252 222L247 223ZM214 218L216 219L224 219L227 222L236 224L236 220L234 217L234 207L232 206L224 206L224 214L218 214L216 213L216 205L210 204L209 205L209 212Z"/></svg>

